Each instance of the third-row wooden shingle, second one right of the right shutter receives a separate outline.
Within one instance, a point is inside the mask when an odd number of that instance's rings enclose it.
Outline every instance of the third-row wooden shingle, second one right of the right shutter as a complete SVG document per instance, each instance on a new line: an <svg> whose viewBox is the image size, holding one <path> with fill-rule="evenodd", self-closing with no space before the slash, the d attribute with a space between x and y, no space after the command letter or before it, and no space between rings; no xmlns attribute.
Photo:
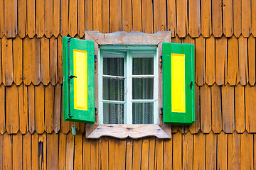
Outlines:
<svg viewBox="0 0 256 170"><path fill-rule="evenodd" d="M211 130L211 96L210 87L207 85L201 88L201 130L208 133Z"/></svg>

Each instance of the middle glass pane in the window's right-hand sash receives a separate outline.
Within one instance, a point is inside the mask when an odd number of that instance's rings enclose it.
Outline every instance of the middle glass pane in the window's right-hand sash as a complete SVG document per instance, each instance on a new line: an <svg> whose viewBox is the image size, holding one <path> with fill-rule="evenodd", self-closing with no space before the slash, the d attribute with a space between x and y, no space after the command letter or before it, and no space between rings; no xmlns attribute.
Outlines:
<svg viewBox="0 0 256 170"><path fill-rule="evenodd" d="M132 78L132 99L154 99L154 78Z"/></svg>

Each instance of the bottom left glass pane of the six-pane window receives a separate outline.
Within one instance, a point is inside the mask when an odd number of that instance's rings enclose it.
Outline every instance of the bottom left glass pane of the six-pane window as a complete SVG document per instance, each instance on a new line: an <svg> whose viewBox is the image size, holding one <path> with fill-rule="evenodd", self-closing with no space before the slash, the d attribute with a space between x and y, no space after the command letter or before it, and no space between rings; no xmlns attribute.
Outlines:
<svg viewBox="0 0 256 170"><path fill-rule="evenodd" d="M103 103L104 124L124 124L124 105Z"/></svg>

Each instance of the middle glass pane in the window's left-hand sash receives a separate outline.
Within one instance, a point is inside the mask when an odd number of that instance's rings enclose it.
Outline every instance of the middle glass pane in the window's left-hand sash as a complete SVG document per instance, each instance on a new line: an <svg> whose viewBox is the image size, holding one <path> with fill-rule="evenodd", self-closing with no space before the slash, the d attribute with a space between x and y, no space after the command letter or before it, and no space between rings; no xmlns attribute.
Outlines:
<svg viewBox="0 0 256 170"><path fill-rule="evenodd" d="M124 101L124 79L103 77L103 100Z"/></svg>

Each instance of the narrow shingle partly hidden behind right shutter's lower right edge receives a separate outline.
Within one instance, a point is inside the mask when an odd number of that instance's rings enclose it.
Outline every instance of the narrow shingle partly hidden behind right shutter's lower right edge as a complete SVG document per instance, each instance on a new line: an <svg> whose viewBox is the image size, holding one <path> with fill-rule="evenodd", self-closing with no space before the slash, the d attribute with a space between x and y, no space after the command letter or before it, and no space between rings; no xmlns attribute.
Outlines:
<svg viewBox="0 0 256 170"><path fill-rule="evenodd" d="M200 89L195 84L195 122L189 127L192 134L198 133L200 130Z"/></svg>

